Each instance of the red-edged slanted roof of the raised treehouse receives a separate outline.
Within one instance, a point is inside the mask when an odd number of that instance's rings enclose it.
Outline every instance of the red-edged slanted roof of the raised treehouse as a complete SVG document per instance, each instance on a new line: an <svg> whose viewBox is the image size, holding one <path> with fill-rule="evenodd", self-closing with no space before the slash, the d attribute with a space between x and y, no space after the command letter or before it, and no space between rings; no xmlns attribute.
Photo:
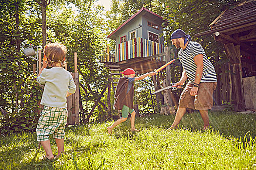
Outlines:
<svg viewBox="0 0 256 170"><path fill-rule="evenodd" d="M108 35L108 38L115 39L118 33L125 28L128 23L131 24L138 16L148 16L155 19L163 19L163 17L158 16L156 13L148 10L147 8L142 7L134 16L130 17L127 21L125 21L121 26L119 26L113 33ZM153 20L155 20L153 19Z"/></svg>

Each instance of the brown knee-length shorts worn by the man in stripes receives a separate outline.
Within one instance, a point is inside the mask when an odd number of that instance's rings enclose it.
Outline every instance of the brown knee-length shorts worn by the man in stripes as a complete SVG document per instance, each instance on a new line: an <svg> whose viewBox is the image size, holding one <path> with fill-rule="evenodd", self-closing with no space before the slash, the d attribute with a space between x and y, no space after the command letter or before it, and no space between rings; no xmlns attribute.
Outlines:
<svg viewBox="0 0 256 170"><path fill-rule="evenodd" d="M179 107L186 107L196 110L209 110L213 106L213 92L217 82L200 83L196 96L190 95L193 84L187 84L179 98Z"/></svg>

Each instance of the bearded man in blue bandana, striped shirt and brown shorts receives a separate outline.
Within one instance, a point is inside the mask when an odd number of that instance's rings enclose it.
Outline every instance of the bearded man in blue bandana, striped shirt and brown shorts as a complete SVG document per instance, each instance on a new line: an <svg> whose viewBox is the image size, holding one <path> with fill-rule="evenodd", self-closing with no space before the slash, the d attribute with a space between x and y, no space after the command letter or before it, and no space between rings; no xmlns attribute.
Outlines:
<svg viewBox="0 0 256 170"><path fill-rule="evenodd" d="M178 126L187 108L199 110L205 130L209 128L208 110L212 109L213 91L217 85L215 69L202 46L197 42L188 41L191 37L184 31L177 29L171 39L177 49L181 48L178 57L183 67L182 76L174 86L181 88L187 79L189 82L180 95L175 120L168 130Z"/></svg>

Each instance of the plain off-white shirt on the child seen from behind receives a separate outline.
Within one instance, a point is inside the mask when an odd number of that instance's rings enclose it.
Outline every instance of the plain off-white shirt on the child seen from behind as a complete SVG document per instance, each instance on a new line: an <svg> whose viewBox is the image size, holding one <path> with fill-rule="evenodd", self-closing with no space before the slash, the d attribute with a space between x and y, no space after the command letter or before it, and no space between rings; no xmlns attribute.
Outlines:
<svg viewBox="0 0 256 170"><path fill-rule="evenodd" d="M44 84L40 104L45 106L66 108L67 92L76 92L76 85L72 75L61 67L44 68L37 81L39 84Z"/></svg>

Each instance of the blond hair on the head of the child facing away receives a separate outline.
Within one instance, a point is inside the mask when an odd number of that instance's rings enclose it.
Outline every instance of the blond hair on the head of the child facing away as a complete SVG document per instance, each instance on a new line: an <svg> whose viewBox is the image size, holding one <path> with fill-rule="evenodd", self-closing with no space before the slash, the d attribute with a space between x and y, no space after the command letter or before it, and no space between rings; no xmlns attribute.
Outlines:
<svg viewBox="0 0 256 170"><path fill-rule="evenodd" d="M67 48L61 43L51 43L45 46L43 50L47 57L49 67L65 67L65 56Z"/></svg>

